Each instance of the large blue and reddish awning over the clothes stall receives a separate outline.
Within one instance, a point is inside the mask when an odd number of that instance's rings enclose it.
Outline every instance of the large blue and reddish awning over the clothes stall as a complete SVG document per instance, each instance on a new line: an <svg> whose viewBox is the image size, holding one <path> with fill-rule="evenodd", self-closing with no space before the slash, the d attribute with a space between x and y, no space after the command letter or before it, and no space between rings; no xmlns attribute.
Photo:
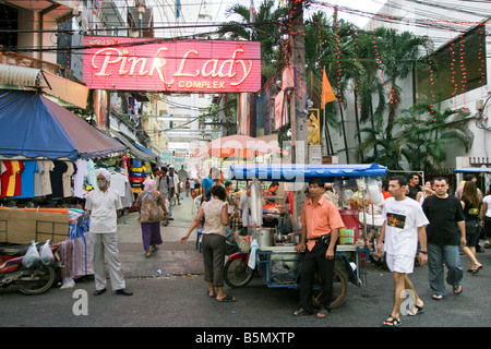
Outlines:
<svg viewBox="0 0 491 349"><path fill-rule="evenodd" d="M0 91L0 156L88 159L127 147L36 92Z"/></svg>

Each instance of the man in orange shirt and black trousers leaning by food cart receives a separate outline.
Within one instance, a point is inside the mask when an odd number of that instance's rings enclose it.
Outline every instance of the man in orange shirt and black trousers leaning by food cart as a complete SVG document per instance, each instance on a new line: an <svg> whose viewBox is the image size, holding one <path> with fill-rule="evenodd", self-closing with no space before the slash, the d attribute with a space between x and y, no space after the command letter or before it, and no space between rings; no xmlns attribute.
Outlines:
<svg viewBox="0 0 491 349"><path fill-rule="evenodd" d="M325 183L314 178L309 182L309 198L306 200L300 215L302 234L297 253L306 250L300 270L300 309L294 316L313 314L312 289L315 270L319 269L322 280L321 309L318 318L326 317L331 312L333 294L334 261L339 229L344 228L338 209L323 196ZM307 249L306 249L307 246Z"/></svg>

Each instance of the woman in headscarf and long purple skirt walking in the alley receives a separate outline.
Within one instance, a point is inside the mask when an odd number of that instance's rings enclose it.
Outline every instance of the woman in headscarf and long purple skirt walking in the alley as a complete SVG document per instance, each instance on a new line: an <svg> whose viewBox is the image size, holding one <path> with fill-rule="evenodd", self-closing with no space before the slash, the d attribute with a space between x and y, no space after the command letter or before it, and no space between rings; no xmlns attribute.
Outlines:
<svg viewBox="0 0 491 349"><path fill-rule="evenodd" d="M166 219L169 219L169 215L164 196L155 190L155 181L146 179L143 184L143 192L136 198L135 206L140 210L139 222L142 226L143 248L145 249L145 258L148 258L152 252L158 250L157 244L161 244L160 208L164 210Z"/></svg>

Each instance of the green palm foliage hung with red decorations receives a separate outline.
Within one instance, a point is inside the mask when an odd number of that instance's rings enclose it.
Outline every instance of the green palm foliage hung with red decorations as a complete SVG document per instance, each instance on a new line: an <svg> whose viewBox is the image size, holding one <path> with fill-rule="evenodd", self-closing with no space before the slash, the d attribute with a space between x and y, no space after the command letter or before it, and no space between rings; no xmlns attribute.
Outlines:
<svg viewBox="0 0 491 349"><path fill-rule="evenodd" d="M279 76L288 57L282 38L288 32L288 9L265 0L258 8L254 23L250 22L249 3L237 3L227 9L227 14L237 14L240 20L221 26L219 35L261 41L263 83ZM411 169L432 173L442 169L448 144L465 149L471 146L474 135L465 123L468 110L440 110L440 105L429 104L399 110L403 93L411 94L400 89L400 82L415 68L429 65L428 57L421 56L423 47L432 46L427 37L385 27L364 32L349 22L335 22L323 11L304 20L304 34L308 97L315 108L322 108L325 69L339 98L325 106L326 137L335 131L343 132L345 144L347 136L358 139L358 159L394 170L402 169L400 163L407 160ZM344 132L347 116L342 107L346 108L347 96L354 96L356 103L355 135ZM282 141L287 131L288 125L279 130Z"/></svg>

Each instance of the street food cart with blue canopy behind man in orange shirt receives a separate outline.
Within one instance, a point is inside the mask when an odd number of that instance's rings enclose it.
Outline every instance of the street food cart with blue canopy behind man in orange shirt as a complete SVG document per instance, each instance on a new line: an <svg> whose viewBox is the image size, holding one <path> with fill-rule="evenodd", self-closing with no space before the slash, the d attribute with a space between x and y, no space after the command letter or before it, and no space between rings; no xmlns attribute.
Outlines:
<svg viewBox="0 0 491 349"><path fill-rule="evenodd" d="M259 181L278 181L306 183L311 178L322 178L326 181L334 179L361 179L385 176L387 169L376 164L369 165L272 165L272 164L244 164L230 166L229 179L252 180L254 188ZM362 193L366 194L366 191ZM262 203L254 197L254 189L251 194L252 214L262 213ZM258 206L261 206L260 209ZM360 224L359 210L342 207L339 209L345 222L345 229L339 233L337 246L333 300L331 308L342 305L348 293L348 280L357 286L362 286L360 253L368 250L357 240L366 236L362 231L364 225ZM284 214L276 215L278 221ZM267 216L272 214L267 213ZM256 217L258 218L258 217ZM261 221L262 221L262 217ZM254 220L254 219L253 219ZM366 220L367 221L367 220ZM225 281L232 288L243 287L252 279L256 269L270 288L298 288L298 276L301 267L302 253L297 253L295 246L299 241L299 233L288 233L289 239L278 239L278 227L254 226L248 229L248 237L238 237L240 251L228 256L225 266ZM361 241L361 240L360 240ZM319 278L320 281L320 278ZM319 282L320 284L320 282ZM314 286L314 297L319 299L321 288Z"/></svg>

